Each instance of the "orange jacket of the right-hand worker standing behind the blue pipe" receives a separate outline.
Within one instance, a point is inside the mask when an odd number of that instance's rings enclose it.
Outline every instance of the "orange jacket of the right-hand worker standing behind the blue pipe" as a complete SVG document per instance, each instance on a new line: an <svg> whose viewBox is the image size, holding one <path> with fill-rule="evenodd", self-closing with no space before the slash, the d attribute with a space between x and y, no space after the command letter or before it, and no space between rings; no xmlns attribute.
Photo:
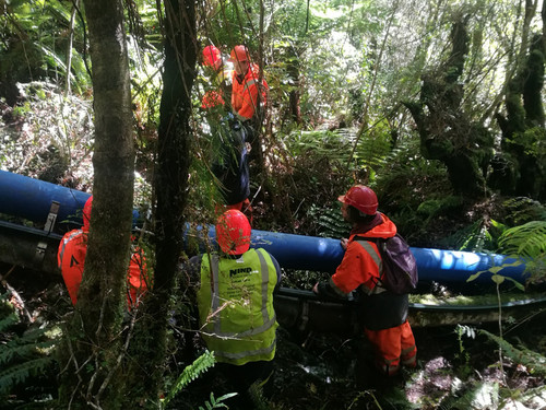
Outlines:
<svg viewBox="0 0 546 410"><path fill-rule="evenodd" d="M259 68L257 65L250 65L242 81L239 80L237 72L234 70L232 86L232 107L234 114L242 121L254 116L258 108L259 91L261 91L260 105L263 106L268 102L268 82L265 81L265 79L262 79L260 84L258 79Z"/></svg>

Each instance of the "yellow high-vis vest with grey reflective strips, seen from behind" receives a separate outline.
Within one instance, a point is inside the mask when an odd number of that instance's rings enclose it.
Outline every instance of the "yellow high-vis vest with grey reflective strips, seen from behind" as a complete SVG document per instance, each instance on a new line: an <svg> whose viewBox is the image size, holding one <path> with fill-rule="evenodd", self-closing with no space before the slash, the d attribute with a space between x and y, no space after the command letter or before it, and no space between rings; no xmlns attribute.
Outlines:
<svg viewBox="0 0 546 410"><path fill-rule="evenodd" d="M275 355L277 328L271 256L250 249L239 259L205 254L198 307L202 337L218 362L242 365Z"/></svg>

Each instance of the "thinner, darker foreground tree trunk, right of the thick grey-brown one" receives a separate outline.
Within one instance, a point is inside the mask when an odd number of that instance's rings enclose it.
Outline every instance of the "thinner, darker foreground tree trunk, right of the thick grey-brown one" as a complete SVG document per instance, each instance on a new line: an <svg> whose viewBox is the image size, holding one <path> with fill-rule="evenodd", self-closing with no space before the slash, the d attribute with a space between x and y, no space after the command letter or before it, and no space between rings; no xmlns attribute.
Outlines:
<svg viewBox="0 0 546 410"><path fill-rule="evenodd" d="M154 181L157 197L154 291L144 306L138 343L131 348L135 360L132 371L128 372L133 377L130 382L132 395L142 396L142 400L151 395L155 395L153 399L156 400L163 387L170 301L183 247L183 211L191 162L191 89L198 56L193 0L165 2L165 33L159 148Z"/></svg>

